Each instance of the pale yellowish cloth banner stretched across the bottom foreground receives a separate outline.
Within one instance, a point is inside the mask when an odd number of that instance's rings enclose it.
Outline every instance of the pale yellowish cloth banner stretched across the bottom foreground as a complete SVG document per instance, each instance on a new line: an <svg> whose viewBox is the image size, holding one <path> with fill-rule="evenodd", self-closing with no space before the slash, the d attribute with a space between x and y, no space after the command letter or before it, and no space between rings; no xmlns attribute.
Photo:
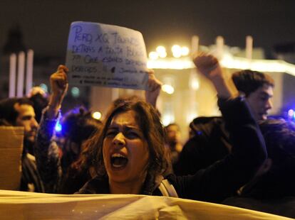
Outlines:
<svg viewBox="0 0 295 220"><path fill-rule="evenodd" d="M239 219L282 216L209 202L134 194L45 194L0 190L1 219Z"/></svg>

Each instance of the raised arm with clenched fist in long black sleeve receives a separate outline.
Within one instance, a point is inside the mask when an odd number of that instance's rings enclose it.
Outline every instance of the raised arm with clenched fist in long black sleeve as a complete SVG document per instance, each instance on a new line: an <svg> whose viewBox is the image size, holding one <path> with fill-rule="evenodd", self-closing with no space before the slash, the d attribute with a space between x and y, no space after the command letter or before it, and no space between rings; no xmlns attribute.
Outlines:
<svg viewBox="0 0 295 220"><path fill-rule="evenodd" d="M183 198L221 202L247 183L267 157L264 139L244 97L231 99L218 61L211 55L194 60L199 72L217 89L222 111L232 141L232 153L195 175L177 177L175 185Z"/></svg>

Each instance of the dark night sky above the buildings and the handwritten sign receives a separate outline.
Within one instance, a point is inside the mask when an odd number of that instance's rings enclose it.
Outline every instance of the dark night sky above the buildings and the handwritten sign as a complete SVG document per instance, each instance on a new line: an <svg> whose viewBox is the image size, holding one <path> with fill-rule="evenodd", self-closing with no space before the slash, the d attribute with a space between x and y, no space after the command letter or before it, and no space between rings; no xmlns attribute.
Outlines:
<svg viewBox="0 0 295 220"><path fill-rule="evenodd" d="M201 45L224 36L230 46L244 47L246 35L254 47L270 51L279 43L295 41L294 0L247 1L99 1L1 0L0 46L16 23L27 48L39 55L66 55L72 21L93 21L133 28L143 33L148 52L157 45L190 45L192 35Z"/></svg>

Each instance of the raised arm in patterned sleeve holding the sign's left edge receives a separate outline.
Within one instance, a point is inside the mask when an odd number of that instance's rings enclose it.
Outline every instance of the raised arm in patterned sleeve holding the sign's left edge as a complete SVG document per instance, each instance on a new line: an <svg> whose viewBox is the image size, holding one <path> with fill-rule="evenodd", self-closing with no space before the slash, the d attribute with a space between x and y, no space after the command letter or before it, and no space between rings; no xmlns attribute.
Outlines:
<svg viewBox="0 0 295 220"><path fill-rule="evenodd" d="M38 172L45 192L48 193L58 192L62 175L59 148L52 137L58 121L58 112L68 88L66 71L67 68L60 65L57 72L51 75L51 99L43 110L34 148Z"/></svg>

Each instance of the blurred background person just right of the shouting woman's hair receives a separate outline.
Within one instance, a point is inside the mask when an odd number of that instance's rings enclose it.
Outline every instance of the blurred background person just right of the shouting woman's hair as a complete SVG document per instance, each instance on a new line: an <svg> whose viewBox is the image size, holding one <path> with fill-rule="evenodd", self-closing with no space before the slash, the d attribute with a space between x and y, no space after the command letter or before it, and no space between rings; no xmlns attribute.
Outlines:
<svg viewBox="0 0 295 220"><path fill-rule="evenodd" d="M165 132L166 148L170 155L172 165L175 165L182 150L182 143L180 142L180 126L178 126L177 123L170 123L165 126Z"/></svg>

